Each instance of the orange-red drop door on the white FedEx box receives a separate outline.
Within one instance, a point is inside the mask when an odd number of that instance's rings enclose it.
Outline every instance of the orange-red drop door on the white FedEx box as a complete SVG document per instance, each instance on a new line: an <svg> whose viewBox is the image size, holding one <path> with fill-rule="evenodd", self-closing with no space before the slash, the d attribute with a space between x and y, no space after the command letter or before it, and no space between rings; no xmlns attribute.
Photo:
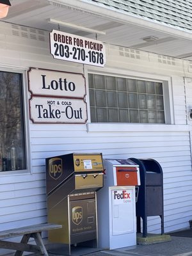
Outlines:
<svg viewBox="0 0 192 256"><path fill-rule="evenodd" d="M116 167L116 185L117 186L138 186L138 168L134 166Z"/></svg>

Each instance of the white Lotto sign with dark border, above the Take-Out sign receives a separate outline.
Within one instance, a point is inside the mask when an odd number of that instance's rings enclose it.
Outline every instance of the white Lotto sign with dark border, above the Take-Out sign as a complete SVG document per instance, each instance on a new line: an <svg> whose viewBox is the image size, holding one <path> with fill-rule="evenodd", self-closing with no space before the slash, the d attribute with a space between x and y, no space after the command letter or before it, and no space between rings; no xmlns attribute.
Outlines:
<svg viewBox="0 0 192 256"><path fill-rule="evenodd" d="M86 95L82 74L31 68L29 91L35 95L83 98Z"/></svg>

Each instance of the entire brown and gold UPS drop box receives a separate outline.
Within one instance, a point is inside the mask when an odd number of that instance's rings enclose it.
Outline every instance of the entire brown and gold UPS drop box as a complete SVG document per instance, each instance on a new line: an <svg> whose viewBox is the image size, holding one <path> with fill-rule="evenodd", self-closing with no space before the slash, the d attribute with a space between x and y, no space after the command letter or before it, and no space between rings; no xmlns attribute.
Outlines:
<svg viewBox="0 0 192 256"><path fill-rule="evenodd" d="M49 241L97 243L97 196L103 186L102 154L66 154L46 162L47 216L63 226L49 232Z"/></svg>

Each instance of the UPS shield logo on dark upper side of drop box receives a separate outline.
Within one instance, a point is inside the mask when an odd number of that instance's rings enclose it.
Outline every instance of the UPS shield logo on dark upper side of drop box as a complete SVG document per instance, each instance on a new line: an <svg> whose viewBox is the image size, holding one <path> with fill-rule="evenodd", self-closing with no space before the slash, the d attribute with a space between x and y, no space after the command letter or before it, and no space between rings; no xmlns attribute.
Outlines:
<svg viewBox="0 0 192 256"><path fill-rule="evenodd" d="M53 157L49 159L49 175L52 179L59 179L62 175L62 159Z"/></svg>

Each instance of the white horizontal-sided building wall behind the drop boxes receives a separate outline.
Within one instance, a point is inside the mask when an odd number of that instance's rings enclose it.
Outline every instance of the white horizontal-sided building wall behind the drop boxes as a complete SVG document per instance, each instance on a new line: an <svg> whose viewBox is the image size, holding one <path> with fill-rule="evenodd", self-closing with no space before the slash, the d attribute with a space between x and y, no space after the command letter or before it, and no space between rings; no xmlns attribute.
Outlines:
<svg viewBox="0 0 192 256"><path fill-rule="evenodd" d="M96 68L54 60L49 33L4 23L0 29L0 70L29 67L118 76L150 77L168 81L170 124L29 124L31 168L28 173L0 173L0 229L47 221L45 158L71 152L102 152L104 158L153 158L163 168L164 231L189 227L192 219L191 120L192 73L189 61L150 52L106 45L107 64ZM89 112L89 98L86 96ZM158 217L148 218L148 232L160 232ZM0 254L3 255L3 250Z"/></svg>

